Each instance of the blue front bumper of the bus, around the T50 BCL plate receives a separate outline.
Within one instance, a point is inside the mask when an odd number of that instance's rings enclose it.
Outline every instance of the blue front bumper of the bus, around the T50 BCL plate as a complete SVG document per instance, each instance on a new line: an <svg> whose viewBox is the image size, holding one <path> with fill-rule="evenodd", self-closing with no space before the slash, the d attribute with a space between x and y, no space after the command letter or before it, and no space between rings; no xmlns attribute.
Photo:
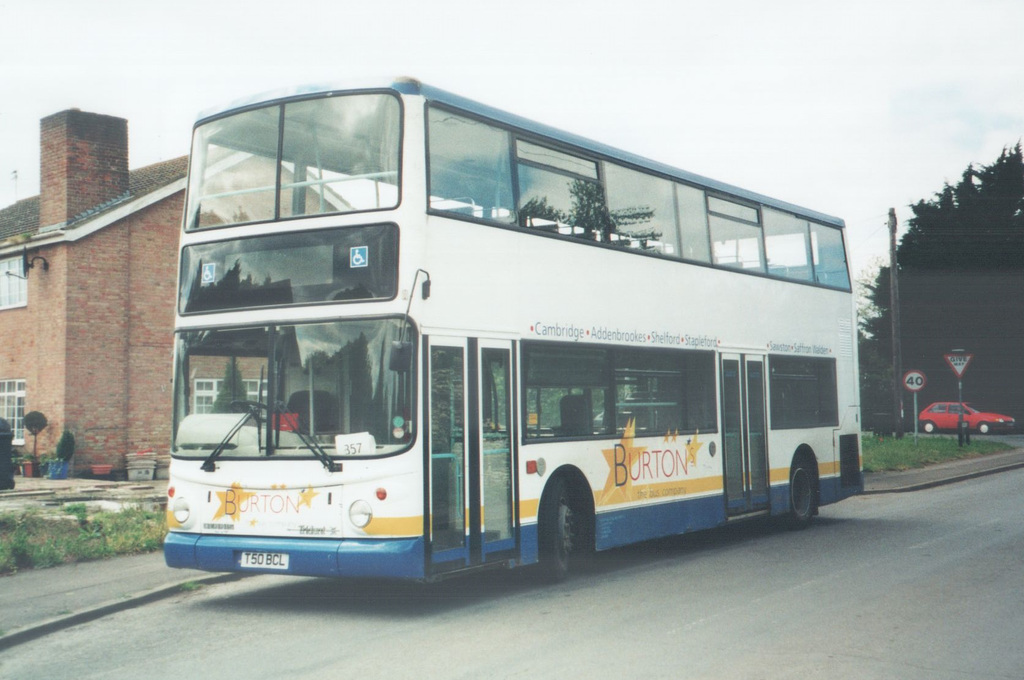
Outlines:
<svg viewBox="0 0 1024 680"><path fill-rule="evenodd" d="M243 551L287 553L288 569L242 568ZM206 571L262 571L308 577L422 579L423 539L272 539L172 532L164 541L168 566Z"/></svg>

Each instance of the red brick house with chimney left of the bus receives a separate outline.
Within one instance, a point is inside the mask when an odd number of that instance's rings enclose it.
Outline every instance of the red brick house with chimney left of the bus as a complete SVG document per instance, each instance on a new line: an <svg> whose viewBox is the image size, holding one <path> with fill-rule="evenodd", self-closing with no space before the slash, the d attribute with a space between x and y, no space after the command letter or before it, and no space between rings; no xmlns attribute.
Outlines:
<svg viewBox="0 0 1024 680"><path fill-rule="evenodd" d="M128 123L70 110L40 124L40 195L0 209L0 417L31 451L42 412L73 468L166 454L187 159L128 169ZM28 264L28 268L26 268Z"/></svg>

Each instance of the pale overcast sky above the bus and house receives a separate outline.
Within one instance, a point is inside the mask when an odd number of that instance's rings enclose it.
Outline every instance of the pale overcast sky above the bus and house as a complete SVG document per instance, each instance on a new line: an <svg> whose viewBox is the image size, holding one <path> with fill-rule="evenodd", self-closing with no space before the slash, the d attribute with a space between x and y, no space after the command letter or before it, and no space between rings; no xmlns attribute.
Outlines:
<svg viewBox="0 0 1024 680"><path fill-rule="evenodd" d="M1022 27L1021 0L0 0L0 207L65 109L128 119L138 168L237 97L409 75L842 217L857 273L890 207L1024 136Z"/></svg>

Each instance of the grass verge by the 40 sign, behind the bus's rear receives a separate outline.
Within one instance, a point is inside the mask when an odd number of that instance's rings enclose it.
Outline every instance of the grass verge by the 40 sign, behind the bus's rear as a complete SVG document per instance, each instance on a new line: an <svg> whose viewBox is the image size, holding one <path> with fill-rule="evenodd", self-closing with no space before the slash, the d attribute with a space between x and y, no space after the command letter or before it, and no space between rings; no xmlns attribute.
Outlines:
<svg viewBox="0 0 1024 680"><path fill-rule="evenodd" d="M958 445L956 437L952 436L918 437L918 443L914 443L912 434L902 439L894 437L879 439L865 432L860 439L864 472L909 470L961 458L986 456L1010 449L1013 447L999 441L986 441L981 437L972 437L968 447Z"/></svg>

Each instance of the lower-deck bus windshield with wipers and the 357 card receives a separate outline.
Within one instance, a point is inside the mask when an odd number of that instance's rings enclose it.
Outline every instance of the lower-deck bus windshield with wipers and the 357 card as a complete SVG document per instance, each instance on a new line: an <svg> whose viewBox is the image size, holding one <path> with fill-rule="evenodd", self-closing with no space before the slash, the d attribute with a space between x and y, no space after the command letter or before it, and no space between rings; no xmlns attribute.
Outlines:
<svg viewBox="0 0 1024 680"><path fill-rule="evenodd" d="M402 451L414 435L411 338L411 327L398 320L183 331L175 358L173 453L261 458L311 457L316 447L329 456Z"/></svg>

